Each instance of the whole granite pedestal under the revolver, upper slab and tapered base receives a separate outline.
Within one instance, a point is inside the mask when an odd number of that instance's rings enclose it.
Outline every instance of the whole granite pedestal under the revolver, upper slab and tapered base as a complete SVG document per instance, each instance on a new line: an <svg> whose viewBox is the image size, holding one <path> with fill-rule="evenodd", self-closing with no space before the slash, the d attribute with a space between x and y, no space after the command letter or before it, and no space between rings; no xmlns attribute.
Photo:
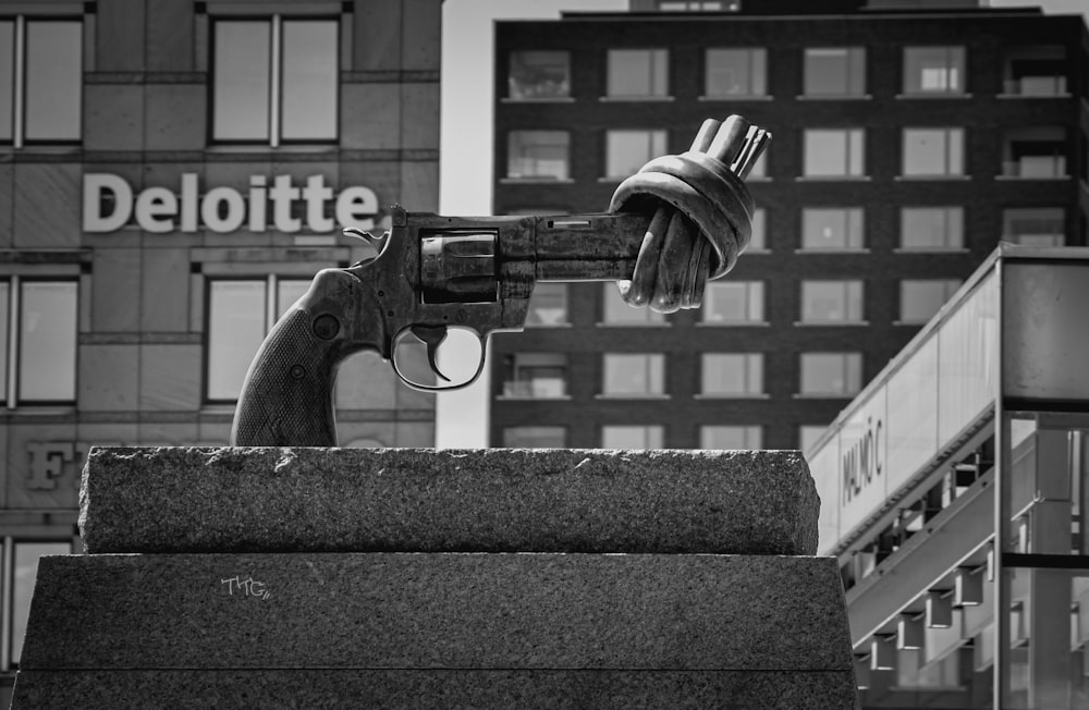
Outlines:
<svg viewBox="0 0 1089 710"><path fill-rule="evenodd" d="M13 708L854 708L797 452L99 449Z"/></svg>

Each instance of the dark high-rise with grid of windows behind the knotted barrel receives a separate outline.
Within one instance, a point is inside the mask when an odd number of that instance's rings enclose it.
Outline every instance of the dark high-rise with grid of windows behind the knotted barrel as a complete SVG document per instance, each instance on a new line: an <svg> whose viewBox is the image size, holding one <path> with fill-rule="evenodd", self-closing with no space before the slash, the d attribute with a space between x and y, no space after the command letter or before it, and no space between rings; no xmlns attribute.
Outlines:
<svg viewBox="0 0 1089 710"><path fill-rule="evenodd" d="M1087 238L1080 16L967 2L634 2L499 22L494 212L604 210L705 118L774 137L699 310L539 284L493 345L495 445L807 448L1000 241Z"/></svg>

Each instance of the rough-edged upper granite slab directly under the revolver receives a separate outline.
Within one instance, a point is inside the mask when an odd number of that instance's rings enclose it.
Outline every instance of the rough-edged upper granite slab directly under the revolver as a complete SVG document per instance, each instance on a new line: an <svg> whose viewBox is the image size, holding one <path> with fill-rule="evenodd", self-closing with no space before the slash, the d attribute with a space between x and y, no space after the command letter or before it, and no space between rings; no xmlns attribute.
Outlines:
<svg viewBox="0 0 1089 710"><path fill-rule="evenodd" d="M96 449L107 552L813 554L796 451Z"/></svg>

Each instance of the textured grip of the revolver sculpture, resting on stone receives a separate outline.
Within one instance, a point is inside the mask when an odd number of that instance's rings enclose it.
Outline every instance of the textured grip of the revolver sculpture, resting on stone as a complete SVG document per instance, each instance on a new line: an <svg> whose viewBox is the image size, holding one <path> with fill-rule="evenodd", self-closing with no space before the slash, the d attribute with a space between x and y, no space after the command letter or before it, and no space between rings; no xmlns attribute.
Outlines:
<svg viewBox="0 0 1089 710"><path fill-rule="evenodd" d="M289 311L249 366L231 429L235 446L335 446L335 346L314 335L311 316Z"/></svg>

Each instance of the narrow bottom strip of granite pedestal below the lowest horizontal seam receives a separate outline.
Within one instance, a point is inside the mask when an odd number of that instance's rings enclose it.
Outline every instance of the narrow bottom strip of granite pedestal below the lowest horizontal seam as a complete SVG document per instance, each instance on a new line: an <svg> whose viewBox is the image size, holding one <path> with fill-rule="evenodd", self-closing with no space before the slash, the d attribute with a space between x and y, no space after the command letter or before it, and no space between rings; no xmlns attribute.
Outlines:
<svg viewBox="0 0 1089 710"><path fill-rule="evenodd" d="M845 671L274 670L20 671L12 707L851 710L854 703Z"/></svg>

